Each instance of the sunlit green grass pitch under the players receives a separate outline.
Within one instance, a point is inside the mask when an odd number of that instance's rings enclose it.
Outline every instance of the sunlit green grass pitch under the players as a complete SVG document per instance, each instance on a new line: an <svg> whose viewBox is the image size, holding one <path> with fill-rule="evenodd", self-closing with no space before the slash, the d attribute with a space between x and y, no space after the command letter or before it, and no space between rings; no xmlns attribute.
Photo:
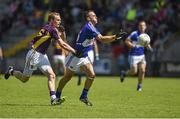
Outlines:
<svg viewBox="0 0 180 119"><path fill-rule="evenodd" d="M0 78L0 118L176 118L180 117L180 79L146 78L143 91L136 91L137 78L96 77L89 92L93 106L79 101L84 85L77 77L65 87L66 101L50 106L47 79L32 76L27 83L13 77Z"/></svg>

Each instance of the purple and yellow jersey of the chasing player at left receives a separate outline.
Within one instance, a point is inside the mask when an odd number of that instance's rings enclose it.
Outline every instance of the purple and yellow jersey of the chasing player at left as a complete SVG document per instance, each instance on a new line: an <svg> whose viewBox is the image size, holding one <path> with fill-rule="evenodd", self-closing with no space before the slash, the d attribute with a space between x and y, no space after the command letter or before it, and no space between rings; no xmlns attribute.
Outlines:
<svg viewBox="0 0 180 119"><path fill-rule="evenodd" d="M46 24L37 34L37 36L32 40L31 45L32 48L36 51L45 54L49 45L51 44L51 40L55 39L58 40L58 30Z"/></svg>

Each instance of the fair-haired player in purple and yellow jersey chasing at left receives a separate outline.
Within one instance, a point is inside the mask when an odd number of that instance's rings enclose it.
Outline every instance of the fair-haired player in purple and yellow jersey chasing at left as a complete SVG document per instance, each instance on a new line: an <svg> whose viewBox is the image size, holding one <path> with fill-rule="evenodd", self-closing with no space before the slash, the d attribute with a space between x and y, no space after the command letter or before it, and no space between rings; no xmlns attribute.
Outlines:
<svg viewBox="0 0 180 119"><path fill-rule="evenodd" d="M5 79L8 79L10 75L14 75L17 79L22 82L27 82L32 75L33 71L39 68L44 75L48 77L48 88L50 91L51 104L53 105L56 101L55 95L55 74L49 63L49 59L46 55L46 51L52 41L56 40L59 45L67 51L73 54L76 51L66 44L58 35L57 28L61 23L61 17L59 13L49 13L48 23L39 31L36 37L31 42L32 49L26 55L26 62L23 73L21 71L14 70L12 66L8 68L5 73Z"/></svg>

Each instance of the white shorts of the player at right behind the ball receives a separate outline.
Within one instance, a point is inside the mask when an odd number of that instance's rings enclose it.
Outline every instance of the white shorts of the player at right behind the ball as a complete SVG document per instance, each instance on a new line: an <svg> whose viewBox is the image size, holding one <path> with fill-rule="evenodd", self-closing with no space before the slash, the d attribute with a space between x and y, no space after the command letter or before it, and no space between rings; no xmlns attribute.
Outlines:
<svg viewBox="0 0 180 119"><path fill-rule="evenodd" d="M129 55L128 61L129 61L130 67L137 65L138 63L146 64L145 55L140 55L140 56Z"/></svg>

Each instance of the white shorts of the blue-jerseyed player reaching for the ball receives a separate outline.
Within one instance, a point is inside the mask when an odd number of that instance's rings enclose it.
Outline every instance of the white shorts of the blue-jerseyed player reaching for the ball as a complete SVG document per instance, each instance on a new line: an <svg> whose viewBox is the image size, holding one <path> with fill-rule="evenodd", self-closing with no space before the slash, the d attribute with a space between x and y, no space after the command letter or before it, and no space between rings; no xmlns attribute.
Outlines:
<svg viewBox="0 0 180 119"><path fill-rule="evenodd" d="M66 57L65 65L70 70L77 71L79 69L79 67L86 65L88 63L93 64L93 62L94 62L94 52L93 51L89 51L88 56L82 57L82 58L78 58L70 53Z"/></svg>

